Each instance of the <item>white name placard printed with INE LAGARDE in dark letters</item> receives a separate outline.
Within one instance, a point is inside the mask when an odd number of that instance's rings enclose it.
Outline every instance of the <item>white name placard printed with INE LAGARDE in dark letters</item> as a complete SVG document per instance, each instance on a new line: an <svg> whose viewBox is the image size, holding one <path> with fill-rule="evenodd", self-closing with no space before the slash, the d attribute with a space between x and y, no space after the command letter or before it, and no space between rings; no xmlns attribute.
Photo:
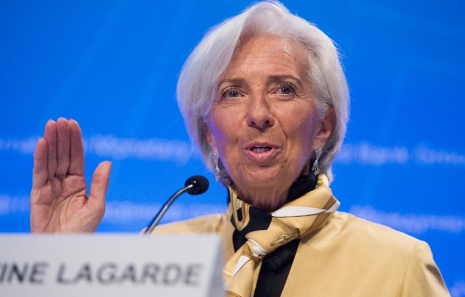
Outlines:
<svg viewBox="0 0 465 297"><path fill-rule="evenodd" d="M224 296L217 235L0 235L0 296Z"/></svg>

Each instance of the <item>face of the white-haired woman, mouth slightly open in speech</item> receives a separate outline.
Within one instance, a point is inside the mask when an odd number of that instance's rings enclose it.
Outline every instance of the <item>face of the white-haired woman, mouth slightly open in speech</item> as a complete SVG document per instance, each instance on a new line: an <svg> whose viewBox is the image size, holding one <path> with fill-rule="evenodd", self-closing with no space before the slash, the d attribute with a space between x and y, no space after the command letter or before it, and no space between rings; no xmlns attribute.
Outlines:
<svg viewBox="0 0 465 297"><path fill-rule="evenodd" d="M305 53L280 37L250 38L221 77L206 119L208 142L241 197L262 209L279 208L331 133L317 117Z"/></svg>

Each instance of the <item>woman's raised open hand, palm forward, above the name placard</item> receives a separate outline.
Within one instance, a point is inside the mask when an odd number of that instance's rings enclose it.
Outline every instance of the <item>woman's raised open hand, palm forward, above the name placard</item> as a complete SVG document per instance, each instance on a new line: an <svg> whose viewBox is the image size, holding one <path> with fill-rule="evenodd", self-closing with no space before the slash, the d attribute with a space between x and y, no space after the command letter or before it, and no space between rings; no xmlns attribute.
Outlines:
<svg viewBox="0 0 465 297"><path fill-rule="evenodd" d="M110 170L109 161L97 166L88 196L78 122L48 120L34 152L31 232L95 231L105 212Z"/></svg>

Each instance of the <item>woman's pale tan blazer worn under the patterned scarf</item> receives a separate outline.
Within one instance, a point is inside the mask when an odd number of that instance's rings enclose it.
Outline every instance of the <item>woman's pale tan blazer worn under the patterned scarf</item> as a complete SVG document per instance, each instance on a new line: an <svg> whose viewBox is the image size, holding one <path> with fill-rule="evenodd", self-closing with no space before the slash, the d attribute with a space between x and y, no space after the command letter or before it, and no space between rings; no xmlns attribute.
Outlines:
<svg viewBox="0 0 465 297"><path fill-rule="evenodd" d="M154 233L218 233L228 259L234 253L230 218L229 212L209 215L161 225ZM301 238L281 296L450 295L426 242L336 211L318 233Z"/></svg>

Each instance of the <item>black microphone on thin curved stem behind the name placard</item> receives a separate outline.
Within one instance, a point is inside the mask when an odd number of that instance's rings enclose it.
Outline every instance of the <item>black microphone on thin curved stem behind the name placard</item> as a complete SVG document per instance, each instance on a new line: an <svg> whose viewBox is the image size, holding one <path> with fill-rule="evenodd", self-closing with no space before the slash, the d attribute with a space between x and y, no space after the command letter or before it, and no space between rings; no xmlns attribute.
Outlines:
<svg viewBox="0 0 465 297"><path fill-rule="evenodd" d="M168 199L168 201L163 205L163 207L160 208L160 210L158 210L158 213L155 215L152 221L145 228L145 231L143 232L143 234L150 235L150 233L152 233L152 230L154 230L155 226L158 224L158 222L160 222L165 212L171 206L171 203L173 203L174 199L176 199L179 195L181 195L184 192L187 192L191 195L199 195L199 194L205 193L205 191L208 190L208 186L209 186L208 179L205 178L204 176L195 175L193 177L187 178L186 182L184 183L184 188L174 193L170 197L170 199Z"/></svg>

